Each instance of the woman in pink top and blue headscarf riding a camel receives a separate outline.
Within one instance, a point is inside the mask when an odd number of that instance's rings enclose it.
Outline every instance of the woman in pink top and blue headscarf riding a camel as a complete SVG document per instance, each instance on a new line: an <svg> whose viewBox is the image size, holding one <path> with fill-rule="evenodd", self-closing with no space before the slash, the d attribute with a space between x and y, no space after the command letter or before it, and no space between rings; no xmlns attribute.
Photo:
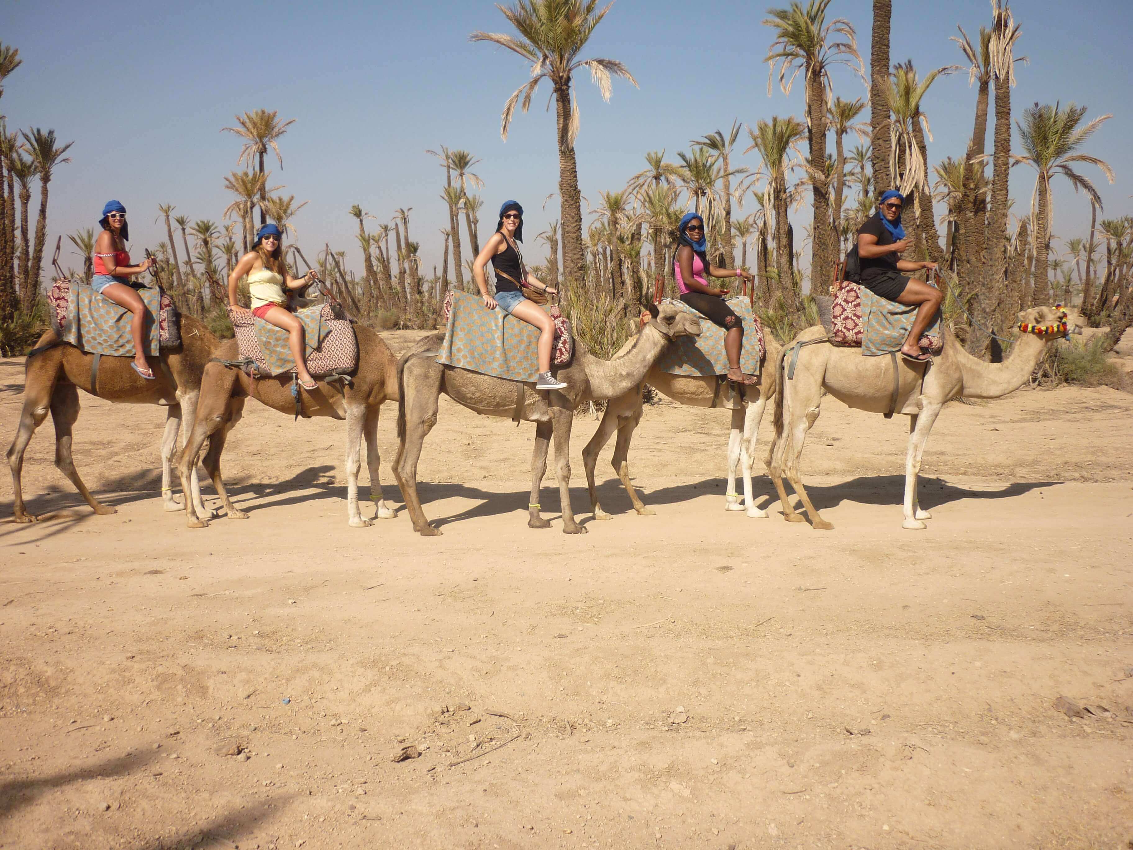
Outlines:
<svg viewBox="0 0 1133 850"><path fill-rule="evenodd" d="M724 301L727 289L709 287L705 274L713 278L740 278L751 281L752 277L742 269L717 269L708 262L705 250L705 222L697 213L688 213L678 228L681 244L673 258L676 288L681 300L709 322L723 328L724 351L727 352L727 380L738 384L753 384L759 379L740 368L740 352L743 350L743 323Z"/></svg>

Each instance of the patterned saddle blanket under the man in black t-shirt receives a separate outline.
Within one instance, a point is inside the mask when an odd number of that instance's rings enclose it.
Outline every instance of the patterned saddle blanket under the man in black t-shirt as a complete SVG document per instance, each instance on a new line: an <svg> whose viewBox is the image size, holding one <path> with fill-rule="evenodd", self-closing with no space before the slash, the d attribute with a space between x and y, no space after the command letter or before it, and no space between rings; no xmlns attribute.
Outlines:
<svg viewBox="0 0 1133 850"><path fill-rule="evenodd" d="M874 295L864 287L842 281L833 297L816 296L818 317L836 346L861 348L867 357L900 351L917 316L917 307L908 307ZM944 334L940 314L921 335L921 348L940 354Z"/></svg>

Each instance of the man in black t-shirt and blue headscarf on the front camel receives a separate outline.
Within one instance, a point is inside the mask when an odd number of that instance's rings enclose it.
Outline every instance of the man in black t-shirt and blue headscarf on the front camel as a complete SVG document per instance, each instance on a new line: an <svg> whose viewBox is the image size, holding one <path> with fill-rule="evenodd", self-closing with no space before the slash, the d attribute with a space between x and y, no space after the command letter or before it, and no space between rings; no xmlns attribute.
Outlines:
<svg viewBox="0 0 1133 850"><path fill-rule="evenodd" d="M904 228L901 227L904 203L900 192L889 189L881 195L877 215L867 219L858 231L858 257L861 262L861 284L866 289L897 304L919 305L913 326L901 347L901 356L906 360L923 363L929 359L929 354L921 349L920 338L940 309L944 296L936 287L901 274L936 269L936 263L900 258L912 241L905 237Z"/></svg>

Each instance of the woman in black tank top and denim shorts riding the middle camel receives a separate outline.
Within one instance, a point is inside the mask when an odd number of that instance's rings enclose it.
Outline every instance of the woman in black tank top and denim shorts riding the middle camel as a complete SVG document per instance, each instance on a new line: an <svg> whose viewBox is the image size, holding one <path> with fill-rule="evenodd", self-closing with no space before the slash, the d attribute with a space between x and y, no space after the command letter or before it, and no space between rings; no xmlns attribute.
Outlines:
<svg viewBox="0 0 1133 850"><path fill-rule="evenodd" d="M538 289L548 295L555 295L557 290L544 284L534 274L527 273L523 255L519 250L519 243L522 240L523 207L514 201L508 201L500 207L496 231L472 264L472 277L476 279L476 286L480 289L485 307L488 309L499 307L516 318L539 329L539 377L535 388L537 390L561 390L566 384L551 374L551 347L554 345L555 324L539 305L523 297L522 287ZM496 275L495 297L488 292L487 277L484 273L488 261L492 261L492 267Z"/></svg>

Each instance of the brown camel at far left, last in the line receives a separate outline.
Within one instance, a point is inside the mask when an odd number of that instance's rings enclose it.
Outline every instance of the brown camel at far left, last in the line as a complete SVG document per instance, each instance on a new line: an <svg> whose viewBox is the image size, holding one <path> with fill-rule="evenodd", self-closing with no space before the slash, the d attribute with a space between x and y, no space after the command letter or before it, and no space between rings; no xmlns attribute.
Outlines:
<svg viewBox="0 0 1133 850"><path fill-rule="evenodd" d="M154 380L146 381L130 368L133 357L103 357L99 363L97 386L91 385L91 364L94 355L88 355L66 342L59 342L54 331L44 333L36 348L45 348L28 357L25 366L24 409L19 417L16 439L8 449L8 466L11 468L15 520L34 522L24 505L20 479L24 471L24 451L35 430L43 424L51 411L56 426L56 466L66 475L95 513L114 513L114 509L102 504L78 477L71 458L71 427L78 419L78 391L85 390L99 398L116 403L165 405L165 433L161 441L161 498L167 511L181 509L172 493L172 460L177 451L177 436L185 420L191 423L201 391L201 375L205 364L220 345L204 324L193 316L181 315L181 346L161 349L160 359L164 368L154 368ZM156 358L150 357L153 365ZM168 374L167 374L168 371ZM169 376L172 376L173 384ZM176 385L174 385L176 384ZM96 391L95 391L96 390ZM182 478L184 482L184 478ZM196 469L190 476L186 500L196 505L201 513L211 512L201 502L201 486Z"/></svg>

